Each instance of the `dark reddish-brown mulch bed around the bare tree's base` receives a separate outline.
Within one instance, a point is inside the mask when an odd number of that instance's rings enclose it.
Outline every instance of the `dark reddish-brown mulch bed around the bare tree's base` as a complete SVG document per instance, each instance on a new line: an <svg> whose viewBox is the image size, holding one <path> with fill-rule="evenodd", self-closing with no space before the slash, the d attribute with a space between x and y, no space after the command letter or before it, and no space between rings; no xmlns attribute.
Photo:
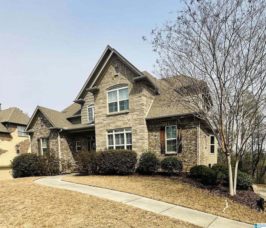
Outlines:
<svg viewBox="0 0 266 228"><path fill-rule="evenodd" d="M136 176L142 176L140 174L135 174ZM179 174L174 174L173 176L166 176L163 172L158 172L152 177L155 178L167 178L172 180L181 181L183 183L188 183L196 186L197 188L206 189L213 194L218 195L219 197L227 197L231 199L233 202L241 203L246 206L251 207L252 209L258 211L259 210L259 200L260 196L253 192L252 189L249 190L236 190L235 196L230 196L228 193L228 183L226 181L222 181L219 185L205 185L200 182L200 180L194 179L189 176L189 173L182 172Z"/></svg>

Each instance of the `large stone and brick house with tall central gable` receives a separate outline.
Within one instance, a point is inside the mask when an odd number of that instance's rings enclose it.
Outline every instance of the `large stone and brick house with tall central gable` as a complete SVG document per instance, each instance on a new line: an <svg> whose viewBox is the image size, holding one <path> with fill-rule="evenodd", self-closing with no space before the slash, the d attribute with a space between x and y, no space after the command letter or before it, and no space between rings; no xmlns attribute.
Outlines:
<svg viewBox="0 0 266 228"><path fill-rule="evenodd" d="M165 89L163 80L107 46L74 104L62 112L37 106L25 131L32 153L54 149L60 158L73 159L95 148L138 154L151 148L160 158L177 156L185 170L217 163L211 131L182 105L163 99Z"/></svg>

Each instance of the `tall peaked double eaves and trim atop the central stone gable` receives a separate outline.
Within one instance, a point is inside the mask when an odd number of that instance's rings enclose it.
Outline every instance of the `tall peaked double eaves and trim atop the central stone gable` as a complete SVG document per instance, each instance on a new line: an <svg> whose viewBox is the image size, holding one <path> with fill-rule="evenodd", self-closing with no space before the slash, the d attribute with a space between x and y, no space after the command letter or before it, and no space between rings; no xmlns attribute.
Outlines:
<svg viewBox="0 0 266 228"><path fill-rule="evenodd" d="M133 66L128 60L126 60L118 51L116 51L114 48L111 48L109 45L105 48L105 51L103 52L101 58L98 60L96 66L94 67L92 73L90 74L89 78L87 79L86 83L82 87L80 93L76 97L75 101L79 99L83 99L86 89L93 88L95 86L98 86L99 83L99 77L103 71L105 71L113 58L117 56L121 61L126 63L128 67L131 68L138 76L142 76L143 73L140 72L135 66ZM74 101L74 102L75 102Z"/></svg>

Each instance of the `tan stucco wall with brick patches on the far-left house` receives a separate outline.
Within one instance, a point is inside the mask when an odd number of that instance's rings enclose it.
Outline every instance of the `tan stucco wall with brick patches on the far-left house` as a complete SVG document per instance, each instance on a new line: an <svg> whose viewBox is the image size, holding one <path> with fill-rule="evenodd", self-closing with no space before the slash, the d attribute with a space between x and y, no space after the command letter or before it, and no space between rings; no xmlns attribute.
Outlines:
<svg viewBox="0 0 266 228"><path fill-rule="evenodd" d="M20 145L20 154L31 153L30 137L18 136L17 125L10 124L10 134L0 135L0 166L10 165L10 161L17 156L16 145Z"/></svg>

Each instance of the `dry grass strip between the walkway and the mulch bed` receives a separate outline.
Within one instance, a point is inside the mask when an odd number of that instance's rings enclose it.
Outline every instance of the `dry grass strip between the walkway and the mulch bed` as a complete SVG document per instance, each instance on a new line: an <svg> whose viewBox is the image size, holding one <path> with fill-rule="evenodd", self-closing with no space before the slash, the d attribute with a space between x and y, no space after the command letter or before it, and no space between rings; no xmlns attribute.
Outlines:
<svg viewBox="0 0 266 228"><path fill-rule="evenodd" d="M266 214L232 202L228 198L229 207L224 214L222 210L226 198L191 184L164 177L93 175L65 177L62 180L136 194L250 224L266 223Z"/></svg>

